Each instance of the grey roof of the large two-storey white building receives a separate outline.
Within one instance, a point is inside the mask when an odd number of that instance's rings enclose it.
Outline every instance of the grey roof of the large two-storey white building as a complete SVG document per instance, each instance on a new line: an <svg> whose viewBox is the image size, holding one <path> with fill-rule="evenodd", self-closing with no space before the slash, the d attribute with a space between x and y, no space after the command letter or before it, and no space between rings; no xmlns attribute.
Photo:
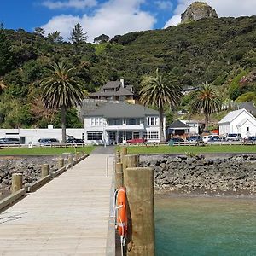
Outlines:
<svg viewBox="0 0 256 256"><path fill-rule="evenodd" d="M138 104L125 102L108 102L102 108L85 113L85 117L103 116L105 118L143 118L148 115L159 115L159 112Z"/></svg>

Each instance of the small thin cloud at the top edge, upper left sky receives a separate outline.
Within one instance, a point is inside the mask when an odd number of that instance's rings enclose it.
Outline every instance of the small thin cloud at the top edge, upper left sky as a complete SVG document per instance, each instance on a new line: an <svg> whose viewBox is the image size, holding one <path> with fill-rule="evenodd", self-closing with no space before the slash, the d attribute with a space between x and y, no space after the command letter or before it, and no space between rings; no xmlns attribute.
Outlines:
<svg viewBox="0 0 256 256"><path fill-rule="evenodd" d="M49 9L74 8L84 9L86 7L94 7L97 5L96 0L68 0L68 1L44 1L42 3Z"/></svg>

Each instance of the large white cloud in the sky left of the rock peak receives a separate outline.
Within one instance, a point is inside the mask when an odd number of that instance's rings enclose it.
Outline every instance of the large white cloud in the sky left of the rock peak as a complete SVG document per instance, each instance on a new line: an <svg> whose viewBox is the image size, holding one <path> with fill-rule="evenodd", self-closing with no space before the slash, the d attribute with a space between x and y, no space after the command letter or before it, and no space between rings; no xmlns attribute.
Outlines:
<svg viewBox="0 0 256 256"><path fill-rule="evenodd" d="M152 29L156 20L153 15L140 9L142 3L143 0L109 0L92 16L59 15L42 27L46 33L59 31L67 39L74 25L80 22L90 42L103 33L112 38L126 32Z"/></svg>

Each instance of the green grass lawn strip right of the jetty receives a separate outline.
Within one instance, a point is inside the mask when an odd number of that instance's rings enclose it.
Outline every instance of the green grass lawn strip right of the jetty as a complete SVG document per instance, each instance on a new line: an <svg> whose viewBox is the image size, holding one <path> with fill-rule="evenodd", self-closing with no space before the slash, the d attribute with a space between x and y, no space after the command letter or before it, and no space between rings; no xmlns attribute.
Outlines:
<svg viewBox="0 0 256 256"><path fill-rule="evenodd" d="M128 154L207 154L207 153L256 153L254 145L209 145L198 146L132 146Z"/></svg>

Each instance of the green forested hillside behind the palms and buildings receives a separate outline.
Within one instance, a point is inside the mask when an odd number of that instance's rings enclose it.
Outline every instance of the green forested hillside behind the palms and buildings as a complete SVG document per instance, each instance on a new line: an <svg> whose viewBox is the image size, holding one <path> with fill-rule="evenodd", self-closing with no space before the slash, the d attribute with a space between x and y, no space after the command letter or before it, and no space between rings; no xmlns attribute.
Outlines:
<svg viewBox="0 0 256 256"><path fill-rule="evenodd" d="M58 113L45 113L39 81L50 63L62 60L76 67L76 75L84 80L87 91L120 78L139 90L142 76L160 67L173 73L183 86L207 81L223 87L227 92L224 97L236 100L241 94L255 90L256 16L202 19L165 30L115 36L108 43L78 46L55 35L44 37L22 29L3 30L0 35L2 127L43 127L49 121L58 124ZM244 76L249 79L241 84Z"/></svg>

